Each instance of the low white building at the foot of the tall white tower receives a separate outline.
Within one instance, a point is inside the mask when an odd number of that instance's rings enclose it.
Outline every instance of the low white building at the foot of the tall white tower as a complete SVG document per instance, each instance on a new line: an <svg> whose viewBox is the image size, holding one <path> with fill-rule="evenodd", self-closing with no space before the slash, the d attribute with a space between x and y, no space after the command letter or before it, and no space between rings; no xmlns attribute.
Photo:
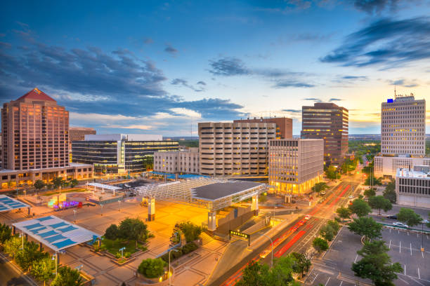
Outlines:
<svg viewBox="0 0 430 286"><path fill-rule="evenodd" d="M394 179L397 169L414 168L416 165L430 165L430 157L411 156L374 156L373 158L374 177L384 177Z"/></svg>

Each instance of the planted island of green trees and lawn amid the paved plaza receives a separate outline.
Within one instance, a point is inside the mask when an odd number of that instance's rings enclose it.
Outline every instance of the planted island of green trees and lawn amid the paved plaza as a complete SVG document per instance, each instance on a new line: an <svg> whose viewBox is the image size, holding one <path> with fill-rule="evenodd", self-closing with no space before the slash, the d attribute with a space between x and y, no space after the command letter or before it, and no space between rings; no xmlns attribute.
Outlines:
<svg viewBox="0 0 430 286"><path fill-rule="evenodd" d="M93 252L110 257L115 264L123 265L148 250L146 243L153 237L141 219L126 218L111 224L105 231L101 243L93 245Z"/></svg>

